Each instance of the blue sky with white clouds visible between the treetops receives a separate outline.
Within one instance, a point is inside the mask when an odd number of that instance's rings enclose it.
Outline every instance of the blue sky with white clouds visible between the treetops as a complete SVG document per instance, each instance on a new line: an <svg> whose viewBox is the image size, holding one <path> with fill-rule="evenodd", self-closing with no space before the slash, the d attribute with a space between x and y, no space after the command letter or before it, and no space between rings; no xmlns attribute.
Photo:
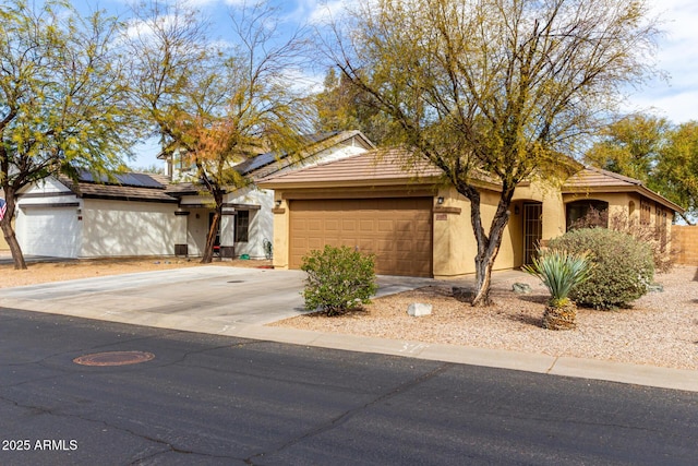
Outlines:
<svg viewBox="0 0 698 466"><path fill-rule="evenodd" d="M210 19L215 28L212 36L225 39L226 26L230 24L228 11L244 0L189 0L189 3ZM248 0L248 3L254 0ZM312 23L337 11L351 0L273 0L280 8L284 21L293 24ZM652 14L661 15L665 35L660 40L658 65L667 75L665 80L648 82L634 91L627 103L628 111L645 111L665 117L674 123L698 120L698 2L696 0L649 0ZM119 15L128 14L128 0L87 0L73 2L79 8L85 3ZM318 73L313 70L313 73ZM322 82L322 73L314 76ZM155 158L157 147L148 144L139 150L134 168L159 164Z"/></svg>

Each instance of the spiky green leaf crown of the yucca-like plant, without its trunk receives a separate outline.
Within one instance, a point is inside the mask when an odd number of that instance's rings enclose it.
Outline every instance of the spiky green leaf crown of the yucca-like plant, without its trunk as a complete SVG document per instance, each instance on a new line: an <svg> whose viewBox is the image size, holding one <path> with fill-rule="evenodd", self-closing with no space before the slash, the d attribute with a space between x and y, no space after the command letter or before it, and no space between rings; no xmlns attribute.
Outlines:
<svg viewBox="0 0 698 466"><path fill-rule="evenodd" d="M553 307L565 306L575 286L579 286L591 276L593 266L588 253L579 254L567 251L543 250L533 259L533 265L525 265L524 270L539 277L550 291Z"/></svg>

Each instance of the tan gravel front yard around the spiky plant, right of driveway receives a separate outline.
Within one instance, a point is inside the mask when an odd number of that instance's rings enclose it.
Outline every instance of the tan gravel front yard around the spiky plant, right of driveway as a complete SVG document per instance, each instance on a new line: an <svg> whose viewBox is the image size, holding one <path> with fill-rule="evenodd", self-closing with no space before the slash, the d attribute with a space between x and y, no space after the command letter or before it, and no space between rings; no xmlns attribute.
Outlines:
<svg viewBox="0 0 698 466"><path fill-rule="evenodd" d="M516 282L528 283L532 292L514 294ZM664 290L630 309L580 308L573 331L541 327L547 290L525 274L496 284L491 308L472 308L456 300L450 287L432 286L375 299L341 316L306 314L273 325L698 370L698 270L676 266L655 282ZM431 303L432 314L408 316L412 302Z"/></svg>

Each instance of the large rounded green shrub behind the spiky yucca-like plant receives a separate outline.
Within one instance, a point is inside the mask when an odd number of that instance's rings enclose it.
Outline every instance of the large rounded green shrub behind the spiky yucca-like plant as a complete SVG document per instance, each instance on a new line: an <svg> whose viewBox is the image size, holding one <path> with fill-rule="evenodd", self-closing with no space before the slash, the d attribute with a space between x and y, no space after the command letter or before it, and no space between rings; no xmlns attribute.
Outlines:
<svg viewBox="0 0 698 466"><path fill-rule="evenodd" d="M568 231L550 241L553 250L589 253L590 277L571 289L578 304L595 309L627 307L648 291L654 276L651 249L633 236L606 228Z"/></svg>

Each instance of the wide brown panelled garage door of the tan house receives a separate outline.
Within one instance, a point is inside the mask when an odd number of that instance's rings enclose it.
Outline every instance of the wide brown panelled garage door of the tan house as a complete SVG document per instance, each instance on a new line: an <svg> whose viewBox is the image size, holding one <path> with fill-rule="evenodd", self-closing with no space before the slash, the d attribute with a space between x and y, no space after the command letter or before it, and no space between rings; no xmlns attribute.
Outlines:
<svg viewBox="0 0 698 466"><path fill-rule="evenodd" d="M432 199L291 201L291 268L325 244L374 253L377 274L432 276Z"/></svg>

